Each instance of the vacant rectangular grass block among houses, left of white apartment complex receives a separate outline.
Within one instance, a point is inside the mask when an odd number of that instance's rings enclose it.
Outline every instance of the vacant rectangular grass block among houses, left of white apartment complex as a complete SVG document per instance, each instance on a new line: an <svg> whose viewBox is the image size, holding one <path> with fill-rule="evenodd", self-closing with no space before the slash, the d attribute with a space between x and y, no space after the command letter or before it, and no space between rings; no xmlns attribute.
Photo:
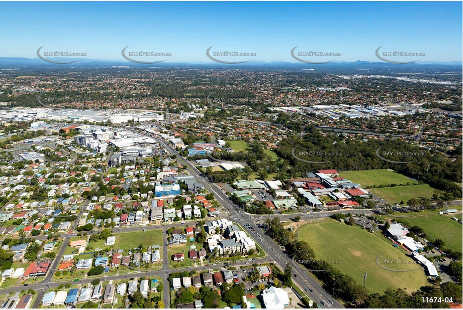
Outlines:
<svg viewBox="0 0 463 310"><path fill-rule="evenodd" d="M140 244L143 245L144 249L152 245L159 245L162 253L162 230L156 229L116 235L115 246L118 249L130 250L138 247Z"/></svg>

